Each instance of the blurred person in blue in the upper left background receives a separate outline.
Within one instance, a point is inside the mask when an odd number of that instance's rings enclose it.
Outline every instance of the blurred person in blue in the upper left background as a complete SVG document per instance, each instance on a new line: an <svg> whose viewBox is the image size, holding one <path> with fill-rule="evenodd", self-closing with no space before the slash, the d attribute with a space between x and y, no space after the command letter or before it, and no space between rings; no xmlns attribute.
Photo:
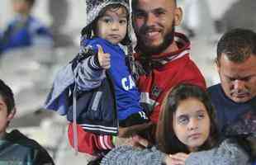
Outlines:
<svg viewBox="0 0 256 165"><path fill-rule="evenodd" d="M50 30L42 25L31 10L36 0L11 0L15 17L7 25L0 39L0 54L7 50L27 46L53 46Z"/></svg>

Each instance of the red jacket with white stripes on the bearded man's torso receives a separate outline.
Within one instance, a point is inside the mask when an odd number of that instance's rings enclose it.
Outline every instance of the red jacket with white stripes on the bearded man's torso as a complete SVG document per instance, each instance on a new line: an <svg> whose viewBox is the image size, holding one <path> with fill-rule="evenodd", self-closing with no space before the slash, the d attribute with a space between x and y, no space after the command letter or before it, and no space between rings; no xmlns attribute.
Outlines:
<svg viewBox="0 0 256 165"><path fill-rule="evenodd" d="M197 65L190 59L190 41L181 33L175 33L179 50L167 54L151 56L154 65L149 73L140 75L138 88L140 89L140 103L150 114L150 120L157 123L160 106L165 94L181 82L192 83L206 89L206 82ZM135 54L141 63L143 54Z"/></svg>

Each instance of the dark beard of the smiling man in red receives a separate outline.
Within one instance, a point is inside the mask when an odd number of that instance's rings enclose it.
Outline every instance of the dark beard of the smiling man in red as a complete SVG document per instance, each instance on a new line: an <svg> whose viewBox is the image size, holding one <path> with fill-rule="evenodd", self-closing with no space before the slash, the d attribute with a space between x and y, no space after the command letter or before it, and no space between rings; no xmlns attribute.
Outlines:
<svg viewBox="0 0 256 165"><path fill-rule="evenodd" d="M143 37L140 36L140 34L144 35L146 31L149 31L150 27L148 26L142 26L140 31L137 31L135 33L136 38L137 38L137 48L140 50L140 52L144 54L160 54L164 52L168 48L169 45L173 43L174 40L174 33L175 33L175 26L174 26L174 21L173 25L171 27L171 30L168 31L167 34L164 35L164 40L163 43L157 46L149 46L145 45L145 41L143 40Z"/></svg>

